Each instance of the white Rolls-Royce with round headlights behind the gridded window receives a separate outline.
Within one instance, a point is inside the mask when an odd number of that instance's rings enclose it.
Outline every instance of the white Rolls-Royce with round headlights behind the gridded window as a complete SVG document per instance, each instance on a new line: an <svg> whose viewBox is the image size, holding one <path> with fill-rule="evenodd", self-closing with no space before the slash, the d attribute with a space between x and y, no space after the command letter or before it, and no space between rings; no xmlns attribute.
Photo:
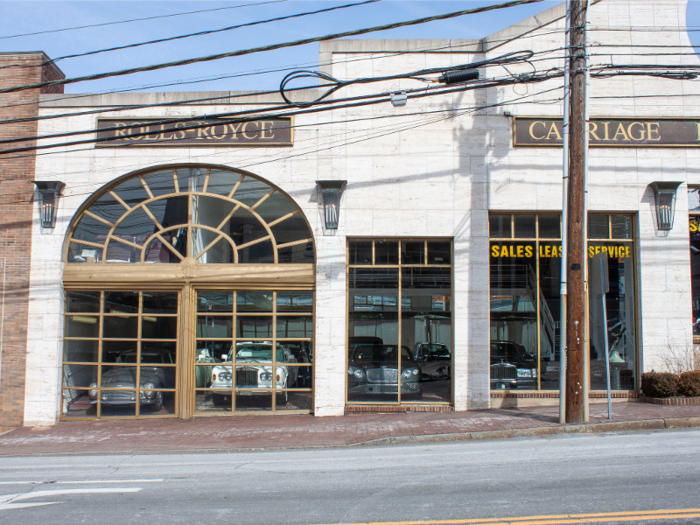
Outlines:
<svg viewBox="0 0 700 525"><path fill-rule="evenodd" d="M276 388L292 388L296 384L298 368L294 366L280 366L279 363L296 363L297 359L288 349L277 344L276 348L277 373L273 378L272 367L272 342L248 341L236 343L236 376L235 386L237 395L270 395L273 380ZM233 349L225 356L224 362L212 369L211 388L212 402L215 405L224 405L231 402L233 387ZM240 366L245 365L245 366ZM256 392L260 389L260 392ZM287 400L287 392L279 394Z"/></svg>

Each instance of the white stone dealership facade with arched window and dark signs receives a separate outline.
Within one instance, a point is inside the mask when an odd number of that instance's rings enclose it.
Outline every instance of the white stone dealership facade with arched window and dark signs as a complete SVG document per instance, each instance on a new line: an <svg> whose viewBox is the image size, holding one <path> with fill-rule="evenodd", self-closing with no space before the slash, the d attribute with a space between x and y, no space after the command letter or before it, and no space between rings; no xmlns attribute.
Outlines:
<svg viewBox="0 0 700 525"><path fill-rule="evenodd" d="M594 3L592 63L647 63L654 43L664 63L697 66L685 9ZM531 50L482 79L556 72L564 16L560 5L481 40L326 42L319 61L354 79ZM10 226L28 291L4 288L2 424L556 403L562 79L416 87L350 85L331 100L408 91L408 102L327 111L304 111L319 91L301 90L292 117L277 93L37 94L42 119L16 133L62 145L25 155L12 193L31 195L32 176L65 189L54 227L27 203L26 225ZM610 284L589 293L593 399L605 328L620 400L669 349L692 348L699 95L692 80L592 80L589 260L607 261ZM161 122L172 118L189 120ZM669 231L659 182L679 183ZM9 343L21 323L8 315L26 322L26 342Z"/></svg>

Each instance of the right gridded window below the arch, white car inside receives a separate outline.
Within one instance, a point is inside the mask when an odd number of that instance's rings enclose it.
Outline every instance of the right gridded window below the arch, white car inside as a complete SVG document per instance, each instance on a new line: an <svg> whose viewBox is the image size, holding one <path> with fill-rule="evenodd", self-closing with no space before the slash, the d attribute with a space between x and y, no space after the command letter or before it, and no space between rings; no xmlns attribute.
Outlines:
<svg viewBox="0 0 700 525"><path fill-rule="evenodd" d="M197 304L196 413L311 412L311 292L201 290Z"/></svg>

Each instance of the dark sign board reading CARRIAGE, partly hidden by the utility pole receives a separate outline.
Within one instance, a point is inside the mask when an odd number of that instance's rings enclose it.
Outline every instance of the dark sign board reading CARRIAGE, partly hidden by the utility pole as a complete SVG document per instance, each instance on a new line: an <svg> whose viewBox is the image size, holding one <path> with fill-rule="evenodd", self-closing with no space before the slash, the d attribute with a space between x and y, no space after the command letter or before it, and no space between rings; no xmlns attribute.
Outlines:
<svg viewBox="0 0 700 525"><path fill-rule="evenodd" d="M591 147L700 147L700 119L592 118ZM515 117L513 146L561 146L563 121L549 117Z"/></svg>

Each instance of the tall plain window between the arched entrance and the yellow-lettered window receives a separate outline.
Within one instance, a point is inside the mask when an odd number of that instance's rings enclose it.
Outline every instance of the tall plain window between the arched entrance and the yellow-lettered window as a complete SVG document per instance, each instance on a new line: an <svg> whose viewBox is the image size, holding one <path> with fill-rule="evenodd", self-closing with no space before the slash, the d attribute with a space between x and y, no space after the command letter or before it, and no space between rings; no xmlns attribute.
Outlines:
<svg viewBox="0 0 700 525"><path fill-rule="evenodd" d="M348 254L348 403L449 403L452 242L349 241Z"/></svg>

